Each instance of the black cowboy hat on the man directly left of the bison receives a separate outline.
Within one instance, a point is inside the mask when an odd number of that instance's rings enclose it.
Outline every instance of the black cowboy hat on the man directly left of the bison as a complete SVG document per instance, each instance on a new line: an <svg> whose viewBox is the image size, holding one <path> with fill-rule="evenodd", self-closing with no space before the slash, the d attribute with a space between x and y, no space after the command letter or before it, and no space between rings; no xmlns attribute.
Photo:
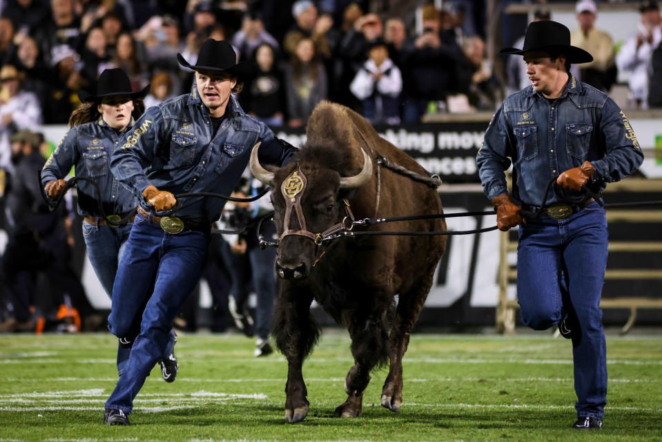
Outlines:
<svg viewBox="0 0 662 442"><path fill-rule="evenodd" d="M251 61L242 61L237 63L237 54L232 45L225 40L206 39L197 55L195 65L188 63L177 54L177 61L185 68L193 70L204 70L210 73L228 73L237 77L253 77L255 74L255 64Z"/></svg>

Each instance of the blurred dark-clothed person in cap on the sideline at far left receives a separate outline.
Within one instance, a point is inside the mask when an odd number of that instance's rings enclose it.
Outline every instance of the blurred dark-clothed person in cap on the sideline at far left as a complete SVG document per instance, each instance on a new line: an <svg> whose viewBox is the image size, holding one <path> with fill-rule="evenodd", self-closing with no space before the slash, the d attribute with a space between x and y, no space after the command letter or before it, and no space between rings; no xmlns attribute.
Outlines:
<svg viewBox="0 0 662 442"><path fill-rule="evenodd" d="M0 324L0 332L35 329L32 309L35 307L34 282L39 271L46 273L50 286L55 289L55 305L75 307L81 318L94 322L92 326L99 324L99 317L93 316L94 309L70 266L64 206L51 212L35 180L35 171L46 162L39 153L39 141L35 133L26 130L15 133L11 139L15 171L7 196L9 238L2 267L12 312L10 318Z"/></svg>

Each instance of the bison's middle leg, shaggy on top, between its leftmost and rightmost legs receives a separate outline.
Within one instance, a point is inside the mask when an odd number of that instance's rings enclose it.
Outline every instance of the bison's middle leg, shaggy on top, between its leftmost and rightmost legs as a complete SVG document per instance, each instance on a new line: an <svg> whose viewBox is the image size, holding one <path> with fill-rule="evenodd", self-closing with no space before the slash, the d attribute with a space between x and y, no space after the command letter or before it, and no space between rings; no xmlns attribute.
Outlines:
<svg viewBox="0 0 662 442"><path fill-rule="evenodd" d="M373 311L361 315L354 312L348 318L349 334L352 338L351 351L354 365L345 378L344 390L347 400L335 409L335 416L356 417L361 415L363 392L370 382L370 372L381 363L385 363L388 355L389 334L385 320L387 312Z"/></svg>

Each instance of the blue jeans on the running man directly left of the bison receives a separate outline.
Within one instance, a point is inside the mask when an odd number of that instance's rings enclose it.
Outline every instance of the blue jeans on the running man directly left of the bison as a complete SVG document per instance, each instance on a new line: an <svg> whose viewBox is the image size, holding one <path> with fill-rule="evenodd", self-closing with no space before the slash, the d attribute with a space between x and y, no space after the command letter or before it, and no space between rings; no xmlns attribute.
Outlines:
<svg viewBox="0 0 662 442"><path fill-rule="evenodd" d="M208 240L208 230L171 235L136 215L113 286L108 328L118 338L130 336L136 312L143 313L128 363L106 408L131 412L133 398L166 352L173 319L202 274Z"/></svg>

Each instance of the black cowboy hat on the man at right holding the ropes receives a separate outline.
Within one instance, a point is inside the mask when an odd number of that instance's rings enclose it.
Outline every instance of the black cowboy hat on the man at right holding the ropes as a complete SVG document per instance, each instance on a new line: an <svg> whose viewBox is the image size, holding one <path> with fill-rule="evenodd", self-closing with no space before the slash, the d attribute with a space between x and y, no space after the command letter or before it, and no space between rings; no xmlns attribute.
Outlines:
<svg viewBox="0 0 662 442"><path fill-rule="evenodd" d="M534 21L529 23L524 36L524 47L505 48L502 54L524 55L525 52L554 50L565 55L570 63L588 63L593 56L582 48L570 45L570 30L556 21Z"/></svg>

